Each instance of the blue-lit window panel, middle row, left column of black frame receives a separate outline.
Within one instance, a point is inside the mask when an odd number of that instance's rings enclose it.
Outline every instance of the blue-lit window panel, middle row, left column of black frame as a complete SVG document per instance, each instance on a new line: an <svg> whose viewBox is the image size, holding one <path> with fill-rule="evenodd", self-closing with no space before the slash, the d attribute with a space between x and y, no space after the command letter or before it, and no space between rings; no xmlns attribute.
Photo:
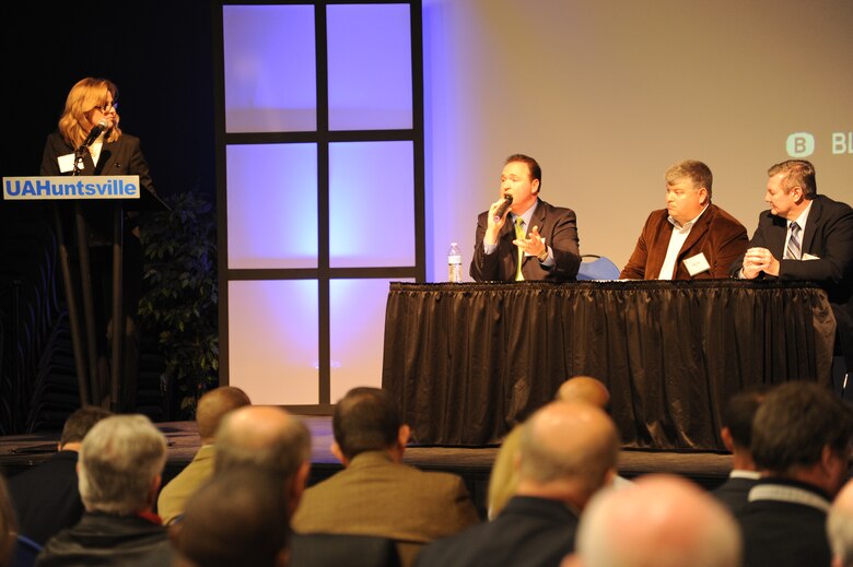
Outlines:
<svg viewBox="0 0 853 567"><path fill-rule="evenodd" d="M316 144L230 145L226 164L229 268L316 268Z"/></svg>

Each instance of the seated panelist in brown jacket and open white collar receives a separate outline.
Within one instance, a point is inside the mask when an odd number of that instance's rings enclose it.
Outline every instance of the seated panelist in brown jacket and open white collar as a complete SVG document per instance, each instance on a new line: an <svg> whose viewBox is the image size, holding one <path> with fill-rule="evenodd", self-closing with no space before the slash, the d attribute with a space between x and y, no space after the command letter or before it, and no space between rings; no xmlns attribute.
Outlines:
<svg viewBox="0 0 853 567"><path fill-rule="evenodd" d="M728 277L747 248L737 218L711 203L711 169L686 160L665 174L666 209L645 221L622 280L709 280Z"/></svg>

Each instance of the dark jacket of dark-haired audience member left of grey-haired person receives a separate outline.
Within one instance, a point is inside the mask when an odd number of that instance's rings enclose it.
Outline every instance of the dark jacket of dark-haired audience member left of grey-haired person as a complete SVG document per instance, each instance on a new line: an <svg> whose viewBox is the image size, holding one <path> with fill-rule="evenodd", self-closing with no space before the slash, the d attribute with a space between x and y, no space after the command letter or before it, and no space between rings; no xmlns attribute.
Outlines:
<svg viewBox="0 0 853 567"><path fill-rule="evenodd" d="M77 487L77 451L59 451L9 480L21 533L39 545L83 516Z"/></svg>

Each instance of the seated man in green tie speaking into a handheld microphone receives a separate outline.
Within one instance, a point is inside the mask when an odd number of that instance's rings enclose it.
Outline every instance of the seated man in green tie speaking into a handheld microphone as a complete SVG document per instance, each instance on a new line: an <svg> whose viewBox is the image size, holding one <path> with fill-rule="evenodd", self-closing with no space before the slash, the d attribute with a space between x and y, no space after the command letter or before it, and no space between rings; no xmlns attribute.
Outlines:
<svg viewBox="0 0 853 567"><path fill-rule="evenodd" d="M575 279L581 267L577 218L571 209L539 199L541 185L542 170L536 160L522 154L506 158L501 172L501 198L477 217L470 268L476 281ZM498 216L506 197L513 198L512 206ZM516 237L519 218L524 238Z"/></svg>

